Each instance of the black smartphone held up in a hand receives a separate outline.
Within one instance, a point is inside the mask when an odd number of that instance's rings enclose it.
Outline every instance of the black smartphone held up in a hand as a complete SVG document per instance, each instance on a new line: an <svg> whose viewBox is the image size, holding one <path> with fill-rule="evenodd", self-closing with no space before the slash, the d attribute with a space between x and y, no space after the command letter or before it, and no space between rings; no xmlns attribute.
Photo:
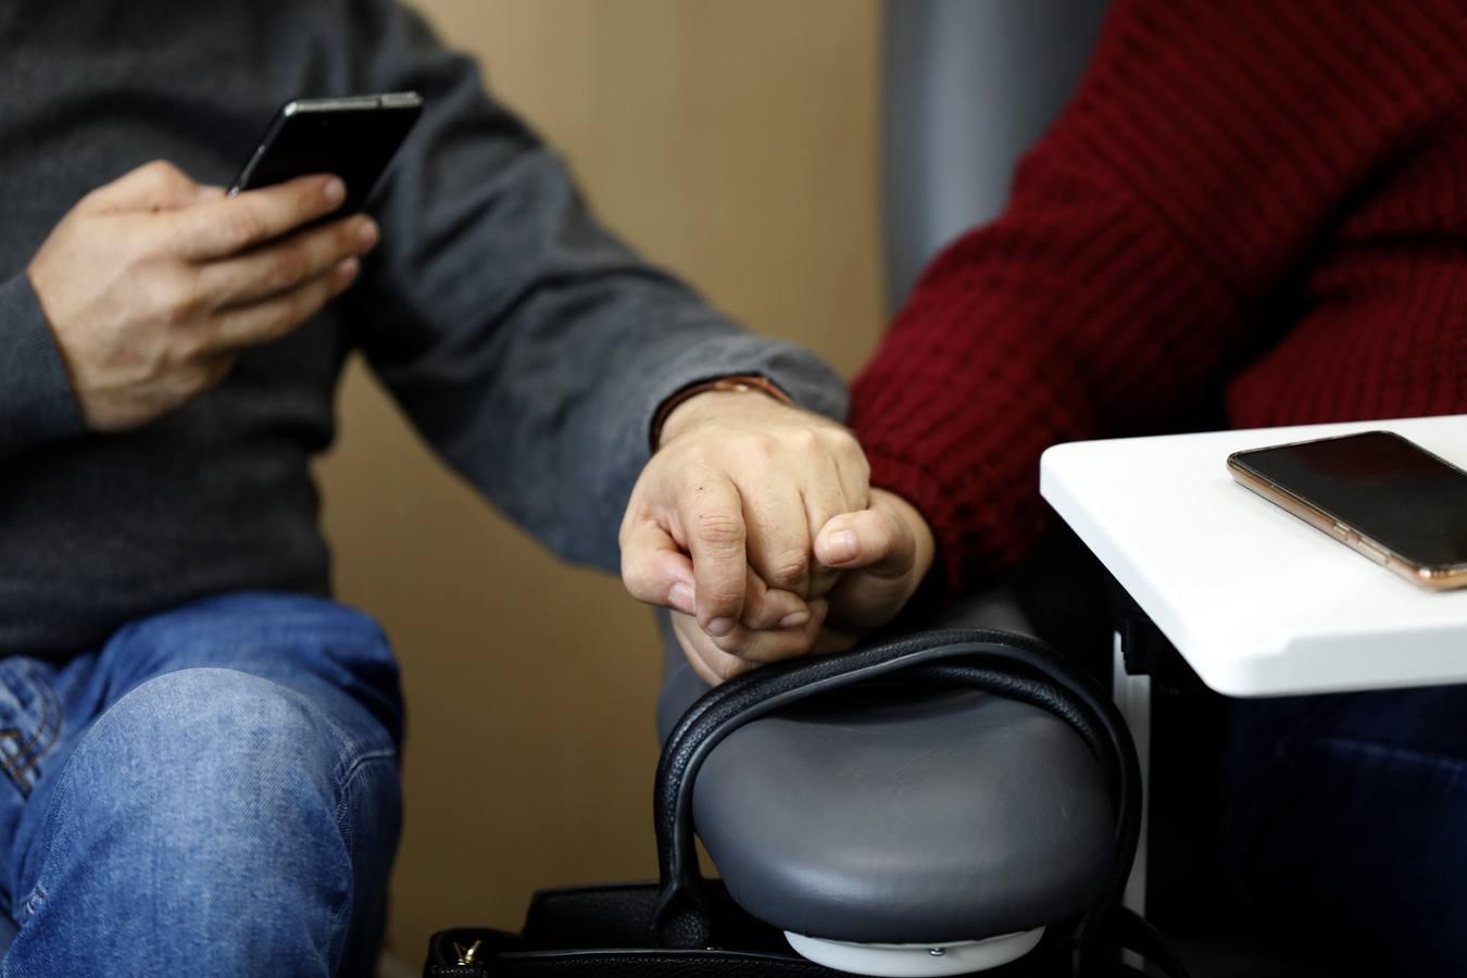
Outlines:
<svg viewBox="0 0 1467 978"><path fill-rule="evenodd" d="M359 211L421 113L417 92L288 101L229 195L308 173L334 173L346 183L337 214Z"/></svg>

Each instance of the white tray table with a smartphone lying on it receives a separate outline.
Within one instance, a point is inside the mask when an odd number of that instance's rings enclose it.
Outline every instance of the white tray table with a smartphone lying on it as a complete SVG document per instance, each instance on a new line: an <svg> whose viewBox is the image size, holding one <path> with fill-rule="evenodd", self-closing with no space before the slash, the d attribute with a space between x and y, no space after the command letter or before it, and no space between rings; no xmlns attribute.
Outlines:
<svg viewBox="0 0 1467 978"><path fill-rule="evenodd" d="M1467 682L1467 589L1419 588L1228 475L1240 449L1373 430L1467 468L1467 415L1452 415L1061 444L1040 462L1040 493L1221 694ZM1149 680L1125 674L1119 635L1115 651L1144 771ZM1144 878L1143 850L1135 909Z"/></svg>

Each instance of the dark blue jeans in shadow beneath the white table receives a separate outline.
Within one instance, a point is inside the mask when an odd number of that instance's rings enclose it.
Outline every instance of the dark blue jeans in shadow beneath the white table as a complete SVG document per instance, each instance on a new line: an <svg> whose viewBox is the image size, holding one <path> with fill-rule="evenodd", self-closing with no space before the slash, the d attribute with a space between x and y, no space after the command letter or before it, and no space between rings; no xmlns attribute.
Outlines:
<svg viewBox="0 0 1467 978"><path fill-rule="evenodd" d="M1235 701L1229 855L1342 974L1467 974L1467 686Z"/></svg>

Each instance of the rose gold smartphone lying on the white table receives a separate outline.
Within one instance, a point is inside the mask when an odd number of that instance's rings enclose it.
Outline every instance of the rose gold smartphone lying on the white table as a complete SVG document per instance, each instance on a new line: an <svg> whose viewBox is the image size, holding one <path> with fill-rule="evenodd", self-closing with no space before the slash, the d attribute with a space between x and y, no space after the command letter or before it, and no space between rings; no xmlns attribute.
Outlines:
<svg viewBox="0 0 1467 978"><path fill-rule="evenodd" d="M1411 584L1467 585L1467 472L1398 434L1235 452L1228 472Z"/></svg>

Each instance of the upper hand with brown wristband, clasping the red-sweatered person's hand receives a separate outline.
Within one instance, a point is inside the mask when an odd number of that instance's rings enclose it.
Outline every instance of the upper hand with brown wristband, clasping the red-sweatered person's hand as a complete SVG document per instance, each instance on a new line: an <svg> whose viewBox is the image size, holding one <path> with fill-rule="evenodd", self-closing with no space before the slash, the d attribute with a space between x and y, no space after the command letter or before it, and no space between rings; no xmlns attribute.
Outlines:
<svg viewBox="0 0 1467 978"><path fill-rule="evenodd" d="M824 620L814 535L866 509L870 469L841 425L758 391L710 391L663 422L622 521L622 578L695 616L745 661L801 655Z"/></svg>

